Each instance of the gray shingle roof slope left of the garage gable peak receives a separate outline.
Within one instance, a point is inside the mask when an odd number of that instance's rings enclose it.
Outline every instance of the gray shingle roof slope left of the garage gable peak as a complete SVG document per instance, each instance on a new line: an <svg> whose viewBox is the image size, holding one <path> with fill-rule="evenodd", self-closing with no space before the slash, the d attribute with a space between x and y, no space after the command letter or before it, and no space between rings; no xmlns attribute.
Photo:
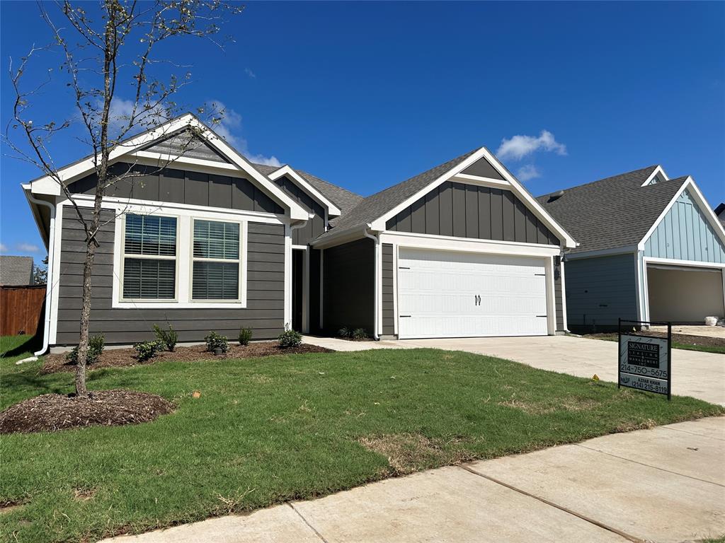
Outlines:
<svg viewBox="0 0 725 543"><path fill-rule="evenodd" d="M426 188L431 182L434 182L442 174L456 167L476 151L478 149L473 149L473 151L457 156L455 159L444 162L444 164L439 164L439 166L428 169L422 174L410 177L410 179L399 182L397 185L393 185L385 190L381 190L379 193L368 196L368 198L360 201L349 213L343 214L337 220L334 229L329 230L318 237L318 239L325 239L335 230L338 232L340 230L349 230L358 226L363 227L365 224L373 222L388 211L394 209L399 203L413 196L419 190Z"/></svg>

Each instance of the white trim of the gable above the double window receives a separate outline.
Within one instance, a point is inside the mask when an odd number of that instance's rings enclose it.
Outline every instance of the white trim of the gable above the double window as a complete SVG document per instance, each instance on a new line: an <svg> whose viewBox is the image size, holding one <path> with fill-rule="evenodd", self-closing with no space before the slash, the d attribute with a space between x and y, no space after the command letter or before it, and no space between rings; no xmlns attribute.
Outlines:
<svg viewBox="0 0 725 543"><path fill-rule="evenodd" d="M209 127L204 125L199 119L196 119L194 115L188 113L185 115L182 115L181 117L178 117L178 119L173 119L172 121L169 121L159 127L154 128L154 130L150 130L149 132L146 132L144 134L136 136L136 138L131 138L127 142L121 144L117 148L115 148L109 155L109 161L117 161L124 155L133 154L136 153L136 151L139 150L139 148L148 145L149 143L153 143L155 140L158 140L159 138L162 138L166 135L172 134L173 132L178 132L178 130L183 130L184 127L194 127L199 130L199 136L204 139L206 143L208 143L210 146L216 149L219 153L221 153L222 156L225 156L226 159L231 161L231 164L236 166L236 169L240 169L241 171L245 172L249 175L249 177L252 177L252 181L258 185L262 190L265 190L270 195L273 196L273 198L276 198L277 201L281 202L284 206L289 208L290 218L292 220L302 220L305 221L309 218L309 215L307 214L307 211L305 209L302 209L302 206L300 206L296 201L294 201L292 198L290 198L288 195L284 193L281 188L279 188L277 185L275 185L273 182L270 182L264 175L262 175L260 172L255 169L252 164L247 161L247 159L244 159L244 156L241 156L239 153L234 151L231 146L229 146L222 138L220 138L218 135L216 135L212 130L210 130ZM144 153L145 154L145 153ZM153 156L161 156L158 153L149 153ZM150 157L146 157L150 158ZM173 157L168 157L170 160L175 161ZM211 166L212 164L207 164L212 161L204 161L200 159L190 159L188 157L184 158L184 164L198 164L198 163L204 163L208 166ZM200 164L200 165L204 165ZM219 167L220 163L213 162L214 167ZM83 175L88 174L91 172L95 167L94 163L94 157L91 156L88 159L84 159L76 164L70 164L70 166L67 166L65 168L61 168L58 170L58 176L60 180L64 183L70 183L79 177L82 177ZM60 186L50 176L41 177L33 182L30 183L31 185L31 191L35 194L51 194L51 195L60 195L62 193Z"/></svg>

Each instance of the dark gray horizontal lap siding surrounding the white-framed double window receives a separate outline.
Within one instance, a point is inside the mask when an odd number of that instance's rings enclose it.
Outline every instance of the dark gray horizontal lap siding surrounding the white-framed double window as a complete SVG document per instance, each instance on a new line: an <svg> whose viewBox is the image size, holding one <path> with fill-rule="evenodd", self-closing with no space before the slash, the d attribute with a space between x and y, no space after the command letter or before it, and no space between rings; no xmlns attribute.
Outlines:
<svg viewBox="0 0 725 543"><path fill-rule="evenodd" d="M78 343L83 292L85 234L75 211L63 206L60 247L59 302L56 345ZM86 210L84 210L86 211ZM86 211L90 217L90 209ZM180 342L204 340L211 330L234 339L241 327L252 329L254 340L273 339L284 329L284 227L249 222L247 237L247 308L113 308L112 282L115 211L104 210L91 284L91 335L103 334L109 344L154 339L152 326L171 324ZM242 258L245 258L243 255ZM178 280L178 278L177 278Z"/></svg>

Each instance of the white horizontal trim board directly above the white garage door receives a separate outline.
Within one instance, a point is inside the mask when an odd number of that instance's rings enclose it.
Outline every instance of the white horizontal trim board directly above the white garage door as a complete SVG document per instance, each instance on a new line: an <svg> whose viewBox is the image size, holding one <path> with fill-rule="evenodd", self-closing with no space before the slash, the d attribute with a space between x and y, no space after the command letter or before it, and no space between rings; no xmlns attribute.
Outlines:
<svg viewBox="0 0 725 543"><path fill-rule="evenodd" d="M399 247L439 249L465 253L490 253L511 256L538 256L550 258L560 254L557 245L539 245L515 241L478 240L468 237L447 237L407 232L382 232L380 243L392 243Z"/></svg>

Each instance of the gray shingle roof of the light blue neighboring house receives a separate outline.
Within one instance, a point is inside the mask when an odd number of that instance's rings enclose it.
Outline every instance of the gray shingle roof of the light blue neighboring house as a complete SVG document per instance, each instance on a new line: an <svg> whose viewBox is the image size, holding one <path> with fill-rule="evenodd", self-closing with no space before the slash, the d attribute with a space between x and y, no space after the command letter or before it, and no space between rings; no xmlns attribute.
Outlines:
<svg viewBox="0 0 725 543"><path fill-rule="evenodd" d="M572 253L639 244L688 177L642 186L658 166L605 177L537 200L580 243Z"/></svg>

